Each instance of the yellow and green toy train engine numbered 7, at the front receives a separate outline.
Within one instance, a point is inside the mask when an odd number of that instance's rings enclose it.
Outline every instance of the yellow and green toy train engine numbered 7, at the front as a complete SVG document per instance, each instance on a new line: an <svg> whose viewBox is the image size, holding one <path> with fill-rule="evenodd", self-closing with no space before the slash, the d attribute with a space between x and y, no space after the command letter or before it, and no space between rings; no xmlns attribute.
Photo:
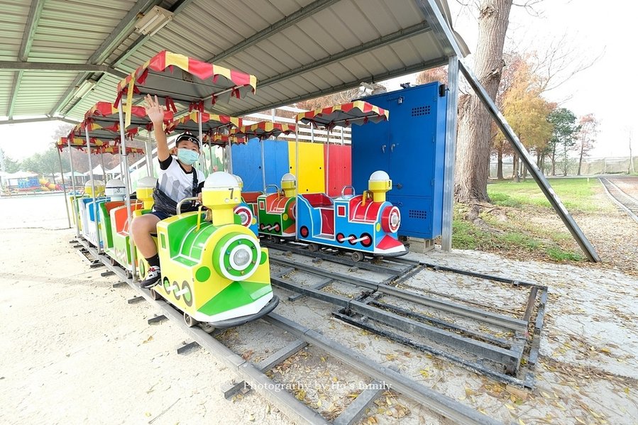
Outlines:
<svg viewBox="0 0 638 425"><path fill-rule="evenodd" d="M240 203L236 178L214 172L202 190L208 211L200 208L158 223L162 281L152 293L184 311L189 326L198 321L237 326L270 313L279 302L270 286L268 250L236 223L233 209Z"/></svg>

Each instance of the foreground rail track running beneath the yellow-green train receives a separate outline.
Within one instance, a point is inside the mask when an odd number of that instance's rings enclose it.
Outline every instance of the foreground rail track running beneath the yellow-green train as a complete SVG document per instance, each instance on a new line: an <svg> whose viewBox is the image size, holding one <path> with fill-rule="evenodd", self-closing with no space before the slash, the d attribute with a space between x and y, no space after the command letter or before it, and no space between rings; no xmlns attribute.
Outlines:
<svg viewBox="0 0 638 425"><path fill-rule="evenodd" d="M138 287L128 276L126 270L123 270L117 265L112 265L110 258L97 253L94 247L89 245L87 241L79 240L77 241L77 245L79 245L82 256L89 261L89 265L94 267L99 261L99 263L108 270L108 272L102 275L106 276L112 273L121 279L121 282L114 284L114 287L128 284L136 291L138 295L133 299L129 299L129 303L145 299L160 309L160 316L149 319L149 323L169 319L192 339L192 342L185 347L199 345L207 349L217 360L224 363L224 365L236 374L238 382L229 382L228 385L221 389L227 398L232 397L233 394L237 394L242 390L254 390L277 407L277 409L280 409L280 411L292 421L295 421L295 423L350 425L361 419L366 409L373 404L375 399L382 397L383 392L390 389L412 399L414 402L422 404L424 407L428 407L432 412L436 412L436 414L444 416L457 424L502 424L500 421L490 418L490 416L478 412L465 404L461 404L444 394L436 392L416 380L410 379L402 373L397 372L397 370L387 368L370 358L366 358L360 353L351 350L351 348L323 336L318 331L308 329L295 321L275 313L270 313L260 320L268 324L268 326L273 326L273 329L279 329L282 335L287 334L294 336L295 341L279 349L273 347L273 354L268 358L261 360L259 363L252 363L219 341L216 338L216 334L211 332L213 331L212 329L206 329L204 326L187 326L180 311L177 311L177 309L163 299L153 299L148 289ZM237 329L241 331L241 329L248 329L248 326L251 325L254 324L246 324ZM360 375L364 375L368 379L369 385L365 390L332 421L328 421L324 416L321 416L319 412L309 407L309 405L299 401L292 393L282 390L281 383L276 382L267 375L269 370L275 368L276 365L284 362L287 358L292 357L307 346L312 346L319 351L327 353L326 358L334 358L337 362L346 365L346 367ZM178 349L178 352L185 347ZM383 385L381 385L381 383L383 383ZM309 383L309 387L312 387L312 383Z"/></svg>

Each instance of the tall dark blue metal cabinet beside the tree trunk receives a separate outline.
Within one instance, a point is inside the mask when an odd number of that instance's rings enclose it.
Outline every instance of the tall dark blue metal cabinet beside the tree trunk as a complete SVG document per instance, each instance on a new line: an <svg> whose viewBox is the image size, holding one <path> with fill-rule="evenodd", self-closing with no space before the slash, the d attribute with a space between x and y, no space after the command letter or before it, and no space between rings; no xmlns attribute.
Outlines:
<svg viewBox="0 0 638 425"><path fill-rule="evenodd" d="M390 111L390 120L352 128L353 186L367 189L376 170L390 175L387 200L401 211L402 236L441 235L447 92L440 86L369 96L365 101Z"/></svg>

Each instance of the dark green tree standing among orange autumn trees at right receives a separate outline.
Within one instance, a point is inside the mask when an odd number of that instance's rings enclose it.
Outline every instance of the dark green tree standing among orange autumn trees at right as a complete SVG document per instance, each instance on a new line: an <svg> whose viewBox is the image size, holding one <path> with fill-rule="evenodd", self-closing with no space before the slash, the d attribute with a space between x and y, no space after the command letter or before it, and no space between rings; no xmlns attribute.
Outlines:
<svg viewBox="0 0 638 425"><path fill-rule="evenodd" d="M551 175L556 175L556 155L561 155L563 175L567 175L569 165L568 151L576 144L576 135L581 126L576 123L576 115L566 108L554 109L549 114L549 122L554 124L554 131L549 139L548 151L551 153Z"/></svg>

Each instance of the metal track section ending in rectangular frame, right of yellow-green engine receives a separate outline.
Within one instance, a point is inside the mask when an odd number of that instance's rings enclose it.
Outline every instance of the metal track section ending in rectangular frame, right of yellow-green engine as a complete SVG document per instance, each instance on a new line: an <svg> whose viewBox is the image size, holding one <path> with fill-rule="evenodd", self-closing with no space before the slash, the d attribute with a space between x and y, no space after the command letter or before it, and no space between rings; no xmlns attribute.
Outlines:
<svg viewBox="0 0 638 425"><path fill-rule="evenodd" d="M333 315L348 324L500 382L533 387L547 287L402 257L353 262L329 248L310 252L302 243L271 241L264 245L270 250L271 265L282 267L278 274L271 273L271 282L297 292L289 297L291 301L308 296L328 302L338 308ZM312 261L304 261L304 257ZM324 262L350 268L329 270ZM407 281L426 269L529 290L524 314L516 317L495 311L493 306L481 303L480 297L468 300L422 288L412 290ZM377 278L361 277L362 270ZM295 272L295 277L290 277L291 272ZM308 275L319 279L317 284L302 285L300 282ZM334 290L326 291L327 287L338 289L335 285L350 285L363 292L343 297Z"/></svg>

